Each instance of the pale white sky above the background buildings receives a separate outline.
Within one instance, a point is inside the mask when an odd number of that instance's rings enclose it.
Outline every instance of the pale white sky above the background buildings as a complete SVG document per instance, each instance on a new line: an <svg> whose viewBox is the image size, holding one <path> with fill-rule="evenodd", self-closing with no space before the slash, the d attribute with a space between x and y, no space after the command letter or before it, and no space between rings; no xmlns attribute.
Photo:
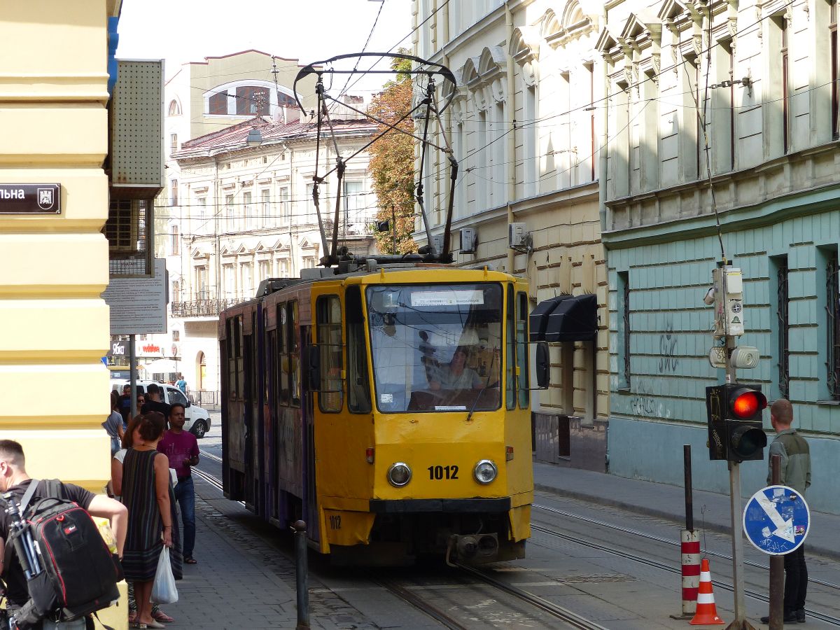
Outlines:
<svg viewBox="0 0 840 630"><path fill-rule="evenodd" d="M411 49L411 7L411 0L123 0L117 56L165 59L167 79L186 61L252 48L306 65L360 52L380 8L365 50L385 52L402 38ZM372 76L356 89L386 80Z"/></svg>

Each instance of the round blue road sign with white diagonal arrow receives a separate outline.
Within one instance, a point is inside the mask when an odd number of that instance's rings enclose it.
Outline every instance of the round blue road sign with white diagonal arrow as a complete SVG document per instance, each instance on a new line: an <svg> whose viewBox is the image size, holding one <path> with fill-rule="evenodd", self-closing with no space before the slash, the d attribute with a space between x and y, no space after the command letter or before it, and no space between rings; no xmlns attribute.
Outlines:
<svg viewBox="0 0 840 630"><path fill-rule="evenodd" d="M790 554L805 542L810 526L805 497L788 486L762 488L743 510L743 531L765 554Z"/></svg>

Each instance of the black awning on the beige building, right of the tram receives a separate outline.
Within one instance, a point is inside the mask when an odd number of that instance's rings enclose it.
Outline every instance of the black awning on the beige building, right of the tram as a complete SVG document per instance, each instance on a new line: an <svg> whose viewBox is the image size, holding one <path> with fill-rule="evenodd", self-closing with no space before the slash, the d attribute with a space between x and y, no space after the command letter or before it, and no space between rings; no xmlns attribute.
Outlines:
<svg viewBox="0 0 840 630"><path fill-rule="evenodd" d="M529 316L531 341L591 341L598 328L598 299L558 296L540 302Z"/></svg>

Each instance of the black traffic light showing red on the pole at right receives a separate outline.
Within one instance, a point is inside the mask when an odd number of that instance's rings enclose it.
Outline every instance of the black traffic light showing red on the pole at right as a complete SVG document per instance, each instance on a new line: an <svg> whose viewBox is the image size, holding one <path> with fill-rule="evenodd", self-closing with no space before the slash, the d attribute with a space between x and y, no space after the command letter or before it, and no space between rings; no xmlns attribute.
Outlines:
<svg viewBox="0 0 840 630"><path fill-rule="evenodd" d="M761 428L761 412L765 407L767 398L761 386L736 383L706 387L709 459L764 459L767 435Z"/></svg>

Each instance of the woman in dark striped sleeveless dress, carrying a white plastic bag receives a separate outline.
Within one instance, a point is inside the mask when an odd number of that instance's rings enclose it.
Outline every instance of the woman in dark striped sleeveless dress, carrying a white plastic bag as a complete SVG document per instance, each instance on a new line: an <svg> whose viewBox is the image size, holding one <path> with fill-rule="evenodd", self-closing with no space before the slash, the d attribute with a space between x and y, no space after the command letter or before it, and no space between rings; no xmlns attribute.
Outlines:
<svg viewBox="0 0 840 630"><path fill-rule="evenodd" d="M138 627L164 627L151 616L150 594L160 551L170 548L172 573L181 579L181 545L175 497L166 455L156 450L165 419L158 412L139 417L137 437L123 461L123 504L129 508L129 532L123 551L125 579L134 583Z"/></svg>

